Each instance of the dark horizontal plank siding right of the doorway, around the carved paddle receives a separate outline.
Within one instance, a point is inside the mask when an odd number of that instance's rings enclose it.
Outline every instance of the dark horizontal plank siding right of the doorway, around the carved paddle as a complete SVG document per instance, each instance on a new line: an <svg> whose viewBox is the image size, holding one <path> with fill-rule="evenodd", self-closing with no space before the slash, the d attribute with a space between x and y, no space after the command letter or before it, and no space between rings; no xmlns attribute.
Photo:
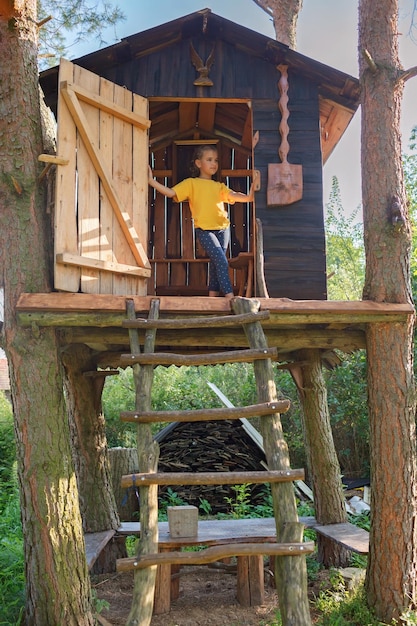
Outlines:
<svg viewBox="0 0 417 626"><path fill-rule="evenodd" d="M277 72L277 80L278 76ZM254 130L260 133L255 167L262 172L263 184L256 197L256 215L263 225L265 275L271 297L321 300L327 294L317 89L291 71L288 82L288 160L303 166L303 198L290 206L266 205L268 163L280 162L277 100L253 102Z"/></svg>

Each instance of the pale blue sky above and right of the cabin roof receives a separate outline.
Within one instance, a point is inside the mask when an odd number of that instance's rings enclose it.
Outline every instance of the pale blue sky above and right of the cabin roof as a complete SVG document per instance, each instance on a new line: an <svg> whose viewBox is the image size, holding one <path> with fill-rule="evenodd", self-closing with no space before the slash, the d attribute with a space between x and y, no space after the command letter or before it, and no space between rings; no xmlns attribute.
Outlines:
<svg viewBox="0 0 417 626"><path fill-rule="evenodd" d="M267 37L275 38L268 14L253 0L112 0L126 15L126 20L104 32L107 45L159 24L183 17L200 9L246 26ZM352 76L358 76L357 0L304 0L298 18L297 51ZM413 0L400 0L400 59L403 67L417 65L417 43L407 35ZM116 39L115 39L116 34ZM98 48L96 41L78 44L70 50L76 58ZM417 125L417 77L407 81L401 132L403 152L407 151L411 130ZM324 167L324 201L327 202L332 179L337 176L344 211L351 214L361 204L360 177L360 111ZM361 212L358 220L362 221Z"/></svg>

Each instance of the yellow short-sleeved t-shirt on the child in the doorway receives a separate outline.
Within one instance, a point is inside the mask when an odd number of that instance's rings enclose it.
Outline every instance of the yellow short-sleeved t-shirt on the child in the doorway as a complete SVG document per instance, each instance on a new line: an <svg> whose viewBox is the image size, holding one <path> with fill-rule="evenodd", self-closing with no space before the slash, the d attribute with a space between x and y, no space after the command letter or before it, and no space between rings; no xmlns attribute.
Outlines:
<svg viewBox="0 0 417 626"><path fill-rule="evenodd" d="M174 200L190 203L194 226L202 230L222 230L230 224L224 202L234 204L231 190L224 183L205 178L186 178L173 187Z"/></svg>

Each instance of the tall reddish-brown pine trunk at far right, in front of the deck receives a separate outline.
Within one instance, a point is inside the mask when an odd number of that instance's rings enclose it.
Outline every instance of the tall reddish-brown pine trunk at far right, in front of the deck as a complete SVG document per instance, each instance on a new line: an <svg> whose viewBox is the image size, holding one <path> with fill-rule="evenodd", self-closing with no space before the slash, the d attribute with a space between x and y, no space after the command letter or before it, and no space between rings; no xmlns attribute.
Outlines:
<svg viewBox="0 0 417 626"><path fill-rule="evenodd" d="M398 1L360 0L364 298L411 302L411 229L401 162ZM398 219L396 219L398 218ZM384 622L416 602L413 325L367 331L371 510L368 602Z"/></svg>

